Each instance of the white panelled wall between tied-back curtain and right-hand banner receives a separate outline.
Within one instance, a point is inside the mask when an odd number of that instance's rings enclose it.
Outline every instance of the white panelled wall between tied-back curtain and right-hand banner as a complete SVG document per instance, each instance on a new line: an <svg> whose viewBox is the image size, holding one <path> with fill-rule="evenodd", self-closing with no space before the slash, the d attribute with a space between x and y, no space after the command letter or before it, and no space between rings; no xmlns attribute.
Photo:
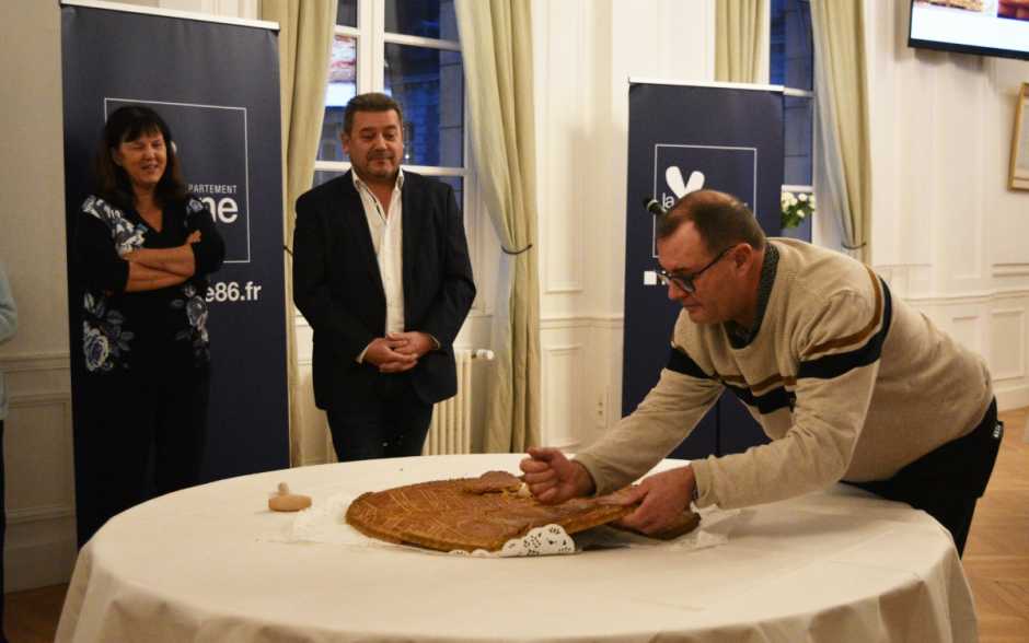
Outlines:
<svg viewBox="0 0 1029 643"><path fill-rule="evenodd" d="M714 78L710 0L533 2L544 443L621 416L628 79Z"/></svg>

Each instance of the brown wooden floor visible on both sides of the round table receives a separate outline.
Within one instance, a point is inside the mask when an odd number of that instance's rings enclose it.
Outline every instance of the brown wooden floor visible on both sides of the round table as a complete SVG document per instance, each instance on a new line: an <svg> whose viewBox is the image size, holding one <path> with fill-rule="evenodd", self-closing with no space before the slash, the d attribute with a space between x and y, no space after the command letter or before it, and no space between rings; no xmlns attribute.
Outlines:
<svg viewBox="0 0 1029 643"><path fill-rule="evenodd" d="M1029 408L1001 413L1004 444L964 550L982 643L1029 643ZM50 643L67 585L7 595L11 643Z"/></svg>

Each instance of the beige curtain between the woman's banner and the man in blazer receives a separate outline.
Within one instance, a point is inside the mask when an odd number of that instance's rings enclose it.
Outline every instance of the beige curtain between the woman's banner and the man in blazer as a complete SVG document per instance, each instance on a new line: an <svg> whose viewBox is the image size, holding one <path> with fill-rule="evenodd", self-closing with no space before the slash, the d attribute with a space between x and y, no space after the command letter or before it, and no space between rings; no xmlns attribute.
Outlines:
<svg viewBox="0 0 1029 643"><path fill-rule="evenodd" d="M325 110L325 83L336 24L336 0L262 0L261 17L279 23L279 79L282 103L284 238L293 247L297 197L311 188ZM310 383L297 364L292 266L286 258L286 336L289 375L289 460L303 464L305 425L324 431L323 422L304 417ZM324 437L321 443L324 444Z"/></svg>

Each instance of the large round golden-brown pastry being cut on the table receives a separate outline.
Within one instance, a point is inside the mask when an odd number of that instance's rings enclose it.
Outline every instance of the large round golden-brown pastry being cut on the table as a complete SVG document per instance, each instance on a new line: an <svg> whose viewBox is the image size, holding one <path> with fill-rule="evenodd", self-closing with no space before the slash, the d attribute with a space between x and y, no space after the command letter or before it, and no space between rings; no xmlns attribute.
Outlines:
<svg viewBox="0 0 1029 643"><path fill-rule="evenodd" d="M542 504L511 474L489 471L478 478L363 493L350 504L346 519L366 536L390 542L440 551L499 551L505 542L535 527L559 525L570 535L617 521L636 508L615 495ZM696 514L683 514L675 531L660 537L684 534L697 519Z"/></svg>

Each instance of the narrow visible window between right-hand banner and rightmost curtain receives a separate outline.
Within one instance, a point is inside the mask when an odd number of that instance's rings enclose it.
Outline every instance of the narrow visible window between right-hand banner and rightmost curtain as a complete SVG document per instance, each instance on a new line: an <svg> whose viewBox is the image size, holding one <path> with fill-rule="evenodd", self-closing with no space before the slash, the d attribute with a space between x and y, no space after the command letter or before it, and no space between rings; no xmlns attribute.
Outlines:
<svg viewBox="0 0 1029 643"><path fill-rule="evenodd" d="M772 0L768 78L784 85L784 189L813 192L814 47L810 0ZM810 241L810 223L807 238Z"/></svg>

